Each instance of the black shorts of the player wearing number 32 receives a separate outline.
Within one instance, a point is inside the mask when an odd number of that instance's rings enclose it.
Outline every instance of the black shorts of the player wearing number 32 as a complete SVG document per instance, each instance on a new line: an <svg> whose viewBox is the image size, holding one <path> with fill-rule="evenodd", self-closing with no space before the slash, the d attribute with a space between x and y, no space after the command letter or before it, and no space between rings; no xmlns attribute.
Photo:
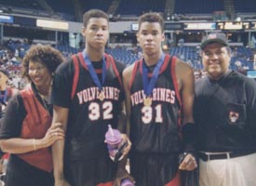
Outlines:
<svg viewBox="0 0 256 186"><path fill-rule="evenodd" d="M117 164L108 156L87 160L69 160L65 177L72 186L96 186L115 179Z"/></svg>

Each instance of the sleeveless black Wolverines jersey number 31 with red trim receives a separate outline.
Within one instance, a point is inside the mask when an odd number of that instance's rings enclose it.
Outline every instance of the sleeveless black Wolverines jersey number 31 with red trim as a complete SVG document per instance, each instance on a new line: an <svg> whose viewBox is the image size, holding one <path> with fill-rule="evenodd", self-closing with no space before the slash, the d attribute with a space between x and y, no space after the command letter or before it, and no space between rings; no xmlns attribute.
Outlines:
<svg viewBox="0 0 256 186"><path fill-rule="evenodd" d="M143 104L142 62L136 61L129 82L133 148L140 153L177 153L181 148L182 102L175 74L176 58L166 55L151 95L150 107Z"/></svg>

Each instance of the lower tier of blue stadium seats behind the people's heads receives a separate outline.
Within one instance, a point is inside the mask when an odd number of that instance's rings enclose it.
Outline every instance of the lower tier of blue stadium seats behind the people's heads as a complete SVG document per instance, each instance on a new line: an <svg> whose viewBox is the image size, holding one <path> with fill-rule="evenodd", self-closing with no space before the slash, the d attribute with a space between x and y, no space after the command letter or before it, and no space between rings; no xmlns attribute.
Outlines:
<svg viewBox="0 0 256 186"><path fill-rule="evenodd" d="M27 49L29 49L29 45L24 45L20 43L11 43L7 44L7 48L10 51L15 51L15 49L19 49L20 47L24 48L24 51L20 52L20 58L22 58ZM69 58L72 54L75 54L81 49L74 48L68 45L57 45L55 46L59 49L64 57ZM237 70L239 66L236 65L236 61L239 60L241 62L241 67L245 67L248 70L253 70L253 49L245 47L245 46L233 46L233 55L231 60L231 69ZM115 60L119 60L124 62L126 65L132 64L135 60L140 59L141 48L138 51L135 51L131 47L115 47L115 48L106 48L106 52L111 54ZM203 65L201 63L201 59L199 56L199 52L197 51L195 46L172 46L168 50L168 54L175 55L179 59L184 61L190 61L190 65L195 69L202 69ZM1 51L0 55L3 55L3 51ZM17 68L17 67L12 67Z"/></svg>

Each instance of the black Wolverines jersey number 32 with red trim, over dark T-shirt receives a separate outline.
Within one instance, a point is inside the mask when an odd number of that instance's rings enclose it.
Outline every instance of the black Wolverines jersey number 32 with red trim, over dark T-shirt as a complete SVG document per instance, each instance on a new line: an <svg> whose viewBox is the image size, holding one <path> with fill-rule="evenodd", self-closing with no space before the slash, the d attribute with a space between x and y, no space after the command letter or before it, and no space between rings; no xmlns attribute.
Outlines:
<svg viewBox="0 0 256 186"><path fill-rule="evenodd" d="M107 73L103 84L104 100L93 82L82 53L61 64L54 77L51 100L69 109L66 152L72 159L88 159L107 153L104 135L107 126L117 127L124 100L122 71L124 64L104 56ZM101 77L101 62L92 62ZM98 67L99 65L99 67Z"/></svg>

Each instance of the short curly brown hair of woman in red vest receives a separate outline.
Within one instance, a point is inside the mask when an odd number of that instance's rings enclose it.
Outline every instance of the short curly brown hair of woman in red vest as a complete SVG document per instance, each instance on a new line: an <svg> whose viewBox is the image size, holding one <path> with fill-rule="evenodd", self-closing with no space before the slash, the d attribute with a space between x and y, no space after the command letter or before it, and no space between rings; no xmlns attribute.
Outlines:
<svg viewBox="0 0 256 186"><path fill-rule="evenodd" d="M64 61L61 52L52 46L34 45L29 48L22 60L22 76L28 78L30 61L41 62L44 64L50 73L54 73L57 67Z"/></svg>

